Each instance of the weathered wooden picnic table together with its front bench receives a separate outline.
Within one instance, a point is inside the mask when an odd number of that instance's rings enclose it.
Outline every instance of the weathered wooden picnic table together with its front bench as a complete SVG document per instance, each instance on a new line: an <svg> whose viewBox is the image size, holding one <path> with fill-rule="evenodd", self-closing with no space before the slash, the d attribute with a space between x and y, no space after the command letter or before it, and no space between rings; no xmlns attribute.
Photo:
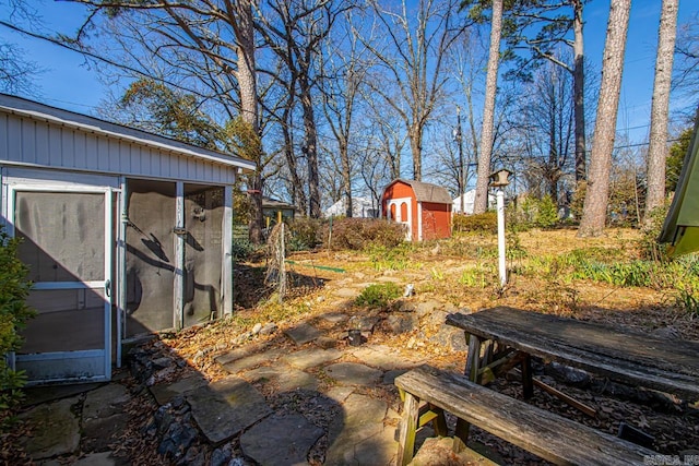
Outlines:
<svg viewBox="0 0 699 466"><path fill-rule="evenodd" d="M455 433L464 442L469 426L475 425L556 464L642 464L655 454L481 385L520 365L524 398L530 397L533 356L686 401L699 399L699 342L668 340L507 307L452 313L447 323L466 333L465 375L423 367L395 379L404 398L401 465L413 457L417 428L433 421L437 434L447 434L445 410L459 418Z"/></svg>

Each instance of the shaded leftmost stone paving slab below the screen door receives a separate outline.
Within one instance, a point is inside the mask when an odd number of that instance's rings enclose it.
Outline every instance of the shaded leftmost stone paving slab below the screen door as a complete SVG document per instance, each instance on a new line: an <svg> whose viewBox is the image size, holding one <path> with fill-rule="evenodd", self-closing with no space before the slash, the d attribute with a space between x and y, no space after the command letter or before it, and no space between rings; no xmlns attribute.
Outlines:
<svg viewBox="0 0 699 466"><path fill-rule="evenodd" d="M33 437L22 438L22 447L32 459L72 453L80 444L80 422L72 407L76 397L38 405L19 416L35 428Z"/></svg>

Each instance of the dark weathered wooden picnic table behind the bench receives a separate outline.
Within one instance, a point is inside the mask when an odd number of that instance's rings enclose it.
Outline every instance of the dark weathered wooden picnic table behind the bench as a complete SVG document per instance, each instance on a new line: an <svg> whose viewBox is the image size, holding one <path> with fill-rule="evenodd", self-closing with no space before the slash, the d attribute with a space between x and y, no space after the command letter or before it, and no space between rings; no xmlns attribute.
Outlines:
<svg viewBox="0 0 699 466"><path fill-rule="evenodd" d="M466 375L471 380L479 381L487 371L507 367L508 361L521 362L525 397L532 392L530 358L536 356L689 402L699 399L696 340L657 338L507 307L472 314L452 313L447 323L466 333Z"/></svg>

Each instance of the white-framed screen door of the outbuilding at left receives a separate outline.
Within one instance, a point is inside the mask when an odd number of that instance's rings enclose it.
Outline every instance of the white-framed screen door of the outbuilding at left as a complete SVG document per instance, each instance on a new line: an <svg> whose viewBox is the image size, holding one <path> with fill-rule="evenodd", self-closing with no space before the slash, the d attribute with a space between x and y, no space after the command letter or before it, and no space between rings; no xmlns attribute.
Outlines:
<svg viewBox="0 0 699 466"><path fill-rule="evenodd" d="M29 383L111 377L114 188L108 177L4 179L20 259L34 282L37 310L15 366ZM94 181L95 183L91 183ZM102 181L102 182L100 182Z"/></svg>

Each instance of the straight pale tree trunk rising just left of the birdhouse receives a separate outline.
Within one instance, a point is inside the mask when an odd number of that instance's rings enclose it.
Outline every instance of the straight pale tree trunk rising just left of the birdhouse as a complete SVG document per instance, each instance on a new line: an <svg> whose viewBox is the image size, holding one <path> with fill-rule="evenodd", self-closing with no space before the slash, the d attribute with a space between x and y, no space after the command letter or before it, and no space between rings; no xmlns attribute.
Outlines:
<svg viewBox="0 0 699 466"><path fill-rule="evenodd" d="M495 120L495 95L498 86L498 65L500 60L500 36L502 33L502 0L493 0L493 20L490 23L490 51L488 55L488 74L485 84L483 106L483 129L481 131L481 153L476 179L474 214L483 214L488 208L488 177L493 154L493 124Z"/></svg>

